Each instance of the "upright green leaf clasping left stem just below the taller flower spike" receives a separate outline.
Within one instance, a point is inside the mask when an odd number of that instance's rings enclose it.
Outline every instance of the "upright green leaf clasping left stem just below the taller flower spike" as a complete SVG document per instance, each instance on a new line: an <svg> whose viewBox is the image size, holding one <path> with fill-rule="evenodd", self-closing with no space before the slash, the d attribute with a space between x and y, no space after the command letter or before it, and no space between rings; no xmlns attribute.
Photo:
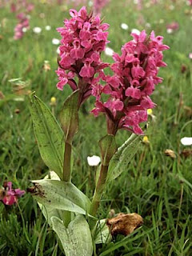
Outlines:
<svg viewBox="0 0 192 256"><path fill-rule="evenodd" d="M79 91L75 90L66 98L59 114L62 130L64 130L68 143L72 142L74 134L78 132L78 94Z"/></svg>

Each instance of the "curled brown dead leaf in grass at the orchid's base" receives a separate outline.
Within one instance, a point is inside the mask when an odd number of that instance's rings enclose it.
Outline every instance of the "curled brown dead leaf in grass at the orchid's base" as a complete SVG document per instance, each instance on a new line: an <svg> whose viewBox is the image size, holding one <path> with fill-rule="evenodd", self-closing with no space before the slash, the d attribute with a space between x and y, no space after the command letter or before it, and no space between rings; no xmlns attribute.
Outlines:
<svg viewBox="0 0 192 256"><path fill-rule="evenodd" d="M110 229L111 235L128 235L134 232L139 226L142 226L142 216L138 214L118 214L114 218L108 218L106 225Z"/></svg>

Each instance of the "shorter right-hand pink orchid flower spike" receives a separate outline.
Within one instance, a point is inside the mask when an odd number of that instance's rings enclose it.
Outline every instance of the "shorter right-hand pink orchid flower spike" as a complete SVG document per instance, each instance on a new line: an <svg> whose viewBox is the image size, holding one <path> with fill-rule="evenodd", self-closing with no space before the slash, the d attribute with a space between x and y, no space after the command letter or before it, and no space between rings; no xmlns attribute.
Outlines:
<svg viewBox="0 0 192 256"><path fill-rule="evenodd" d="M122 46L122 55L113 55L114 75L102 77L104 86L98 82L92 84L92 94L96 97L92 112L95 116L106 114L109 134L121 128L142 134L139 124L146 122L147 109L155 106L150 94L162 82L158 69L166 66L162 51L169 47L163 45L161 36L155 37L153 31L147 38L145 30L131 35L134 40ZM106 102L102 102L102 94L109 95Z"/></svg>

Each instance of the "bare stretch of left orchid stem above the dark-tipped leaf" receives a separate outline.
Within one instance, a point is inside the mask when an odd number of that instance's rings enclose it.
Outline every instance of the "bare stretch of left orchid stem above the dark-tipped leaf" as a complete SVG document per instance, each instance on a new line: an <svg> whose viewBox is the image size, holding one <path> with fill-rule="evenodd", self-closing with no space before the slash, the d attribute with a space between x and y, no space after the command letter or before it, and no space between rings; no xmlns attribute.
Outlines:
<svg viewBox="0 0 192 256"><path fill-rule="evenodd" d="M64 162L63 162L63 181L70 182L70 158L71 158L71 144L65 142Z"/></svg>

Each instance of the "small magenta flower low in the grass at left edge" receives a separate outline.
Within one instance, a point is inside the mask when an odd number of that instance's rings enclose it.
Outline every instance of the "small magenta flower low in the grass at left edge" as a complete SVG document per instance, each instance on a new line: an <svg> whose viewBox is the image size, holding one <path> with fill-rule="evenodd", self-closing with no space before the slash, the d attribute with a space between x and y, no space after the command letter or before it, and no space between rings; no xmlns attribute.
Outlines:
<svg viewBox="0 0 192 256"><path fill-rule="evenodd" d="M12 189L12 182L4 182L0 201L5 205L12 206L15 202L18 202L18 198L21 198L25 193L24 190Z"/></svg>

